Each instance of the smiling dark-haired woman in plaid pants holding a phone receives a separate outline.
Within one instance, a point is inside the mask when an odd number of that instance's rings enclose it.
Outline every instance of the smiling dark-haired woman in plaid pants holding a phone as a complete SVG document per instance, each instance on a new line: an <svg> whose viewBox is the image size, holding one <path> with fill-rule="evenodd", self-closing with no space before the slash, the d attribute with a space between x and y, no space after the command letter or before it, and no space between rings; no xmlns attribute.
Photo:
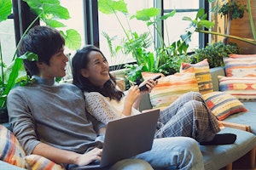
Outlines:
<svg viewBox="0 0 256 170"><path fill-rule="evenodd" d="M73 84L85 96L87 110L100 122L139 114L143 94L150 93L157 81L146 81L148 91L131 86L125 95L109 73L108 61L99 48L89 45L79 50L72 59ZM199 142L212 141L220 131L218 120L207 108L201 94L184 94L165 110L160 118L155 138L186 136ZM215 141L215 140L214 140Z"/></svg>

